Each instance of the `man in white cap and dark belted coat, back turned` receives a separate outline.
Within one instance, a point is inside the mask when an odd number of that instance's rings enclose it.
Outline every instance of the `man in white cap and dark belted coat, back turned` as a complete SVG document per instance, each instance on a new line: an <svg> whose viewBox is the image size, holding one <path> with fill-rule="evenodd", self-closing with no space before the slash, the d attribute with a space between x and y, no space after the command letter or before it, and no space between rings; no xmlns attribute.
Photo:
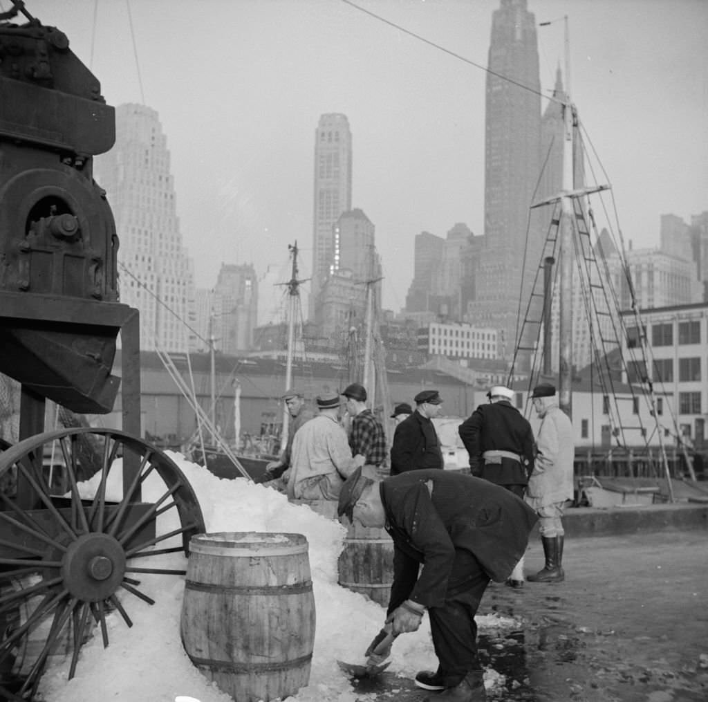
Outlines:
<svg viewBox="0 0 708 702"><path fill-rule="evenodd" d="M480 404L457 430L469 453L470 472L506 487L523 499L533 470L533 430L523 414L512 406L513 390L494 385L487 397L489 404ZM514 588L523 587L523 558L507 584Z"/></svg>

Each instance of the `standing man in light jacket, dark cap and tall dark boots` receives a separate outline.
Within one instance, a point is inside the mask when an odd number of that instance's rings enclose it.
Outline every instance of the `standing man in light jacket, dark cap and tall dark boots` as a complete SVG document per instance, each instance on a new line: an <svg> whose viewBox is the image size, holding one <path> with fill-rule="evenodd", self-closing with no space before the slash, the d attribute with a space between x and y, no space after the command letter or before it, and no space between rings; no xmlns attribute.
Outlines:
<svg viewBox="0 0 708 702"><path fill-rule="evenodd" d="M558 406L556 388L542 383L531 395L534 409L542 419L537 438L537 455L529 478L526 502L539 516L539 532L546 564L530 582L563 582L563 509L573 499L573 425Z"/></svg>

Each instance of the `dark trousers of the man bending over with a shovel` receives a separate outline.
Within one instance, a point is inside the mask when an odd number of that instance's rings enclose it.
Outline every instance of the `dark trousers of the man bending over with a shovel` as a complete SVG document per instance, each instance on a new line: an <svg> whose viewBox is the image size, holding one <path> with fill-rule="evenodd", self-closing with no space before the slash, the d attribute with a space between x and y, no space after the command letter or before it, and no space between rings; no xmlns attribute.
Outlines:
<svg viewBox="0 0 708 702"><path fill-rule="evenodd" d="M474 616L487 585L489 576L479 561L468 551L458 550L447 583L445 604L428 609L438 672L445 686L454 687L468 673L482 670Z"/></svg>

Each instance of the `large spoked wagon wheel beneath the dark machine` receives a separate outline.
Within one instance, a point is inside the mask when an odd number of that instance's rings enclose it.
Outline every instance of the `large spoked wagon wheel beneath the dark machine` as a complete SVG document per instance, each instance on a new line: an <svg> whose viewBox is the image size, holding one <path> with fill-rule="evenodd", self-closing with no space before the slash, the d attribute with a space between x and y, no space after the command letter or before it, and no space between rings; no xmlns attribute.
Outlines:
<svg viewBox="0 0 708 702"><path fill-rule="evenodd" d="M91 461L96 474L79 485L77 476L87 472L86 441L98 465ZM63 496L50 494L42 466L52 447L65 471ZM121 492L125 455L132 455L135 470ZM29 489L32 509L0 492L0 698L26 700L57 646L70 655L71 679L96 625L108 645L110 611L132 626L133 598L154 604L149 584L135 576L185 574L185 564L165 563L166 555L186 554L190 538L205 529L176 463L122 431L82 427L31 436L0 453L0 481L8 471L16 472L18 498L23 486ZM151 492L145 502L135 499L141 491ZM30 638L36 650L27 661Z"/></svg>

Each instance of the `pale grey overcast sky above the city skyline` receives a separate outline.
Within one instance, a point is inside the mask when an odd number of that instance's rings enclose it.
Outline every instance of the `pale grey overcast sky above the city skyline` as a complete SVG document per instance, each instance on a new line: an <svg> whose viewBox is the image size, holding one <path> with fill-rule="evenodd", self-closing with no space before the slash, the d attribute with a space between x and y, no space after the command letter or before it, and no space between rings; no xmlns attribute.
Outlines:
<svg viewBox="0 0 708 702"><path fill-rule="evenodd" d="M26 0L68 35L109 104L158 111L200 287L214 285L223 261L253 263L272 288L289 277L295 240L309 276L314 130L321 114L346 114L353 206L376 227L384 306L399 310L416 234L444 237L456 222L484 233L486 74L469 62L486 66L501 3L357 4L462 58L343 0ZM564 62L569 16L571 94L625 241L656 246L662 214L689 222L708 210L708 2L528 8L537 23L554 21L538 30L544 91Z"/></svg>

